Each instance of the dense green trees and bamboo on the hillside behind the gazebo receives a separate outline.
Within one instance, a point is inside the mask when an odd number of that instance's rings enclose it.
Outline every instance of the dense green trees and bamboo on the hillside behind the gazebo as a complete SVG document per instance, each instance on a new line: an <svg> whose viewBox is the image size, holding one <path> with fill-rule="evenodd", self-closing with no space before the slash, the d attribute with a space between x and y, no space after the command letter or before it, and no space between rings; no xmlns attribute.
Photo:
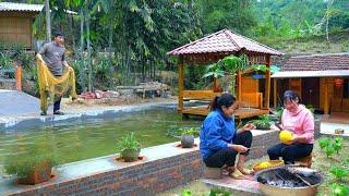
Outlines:
<svg viewBox="0 0 349 196"><path fill-rule="evenodd" d="M79 91L112 89L160 79L160 71L176 72L177 60L167 51L222 28L285 53L348 51L348 4L346 0L52 0L49 7L57 9L36 17L33 34L43 40L47 32L63 29ZM52 19L49 30L43 28L46 14ZM13 59L0 56L0 61L5 66ZM210 79L203 79L204 74L205 66L185 66L185 88L207 87ZM176 78L171 81L176 86Z"/></svg>

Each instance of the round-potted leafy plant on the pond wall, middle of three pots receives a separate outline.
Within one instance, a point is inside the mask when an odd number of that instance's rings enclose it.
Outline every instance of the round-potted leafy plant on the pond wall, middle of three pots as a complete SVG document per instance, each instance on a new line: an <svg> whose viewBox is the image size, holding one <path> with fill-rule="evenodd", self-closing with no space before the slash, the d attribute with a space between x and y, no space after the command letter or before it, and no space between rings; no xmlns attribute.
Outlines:
<svg viewBox="0 0 349 196"><path fill-rule="evenodd" d="M120 155L125 162L139 160L141 144L136 140L134 133L128 133L118 144Z"/></svg>

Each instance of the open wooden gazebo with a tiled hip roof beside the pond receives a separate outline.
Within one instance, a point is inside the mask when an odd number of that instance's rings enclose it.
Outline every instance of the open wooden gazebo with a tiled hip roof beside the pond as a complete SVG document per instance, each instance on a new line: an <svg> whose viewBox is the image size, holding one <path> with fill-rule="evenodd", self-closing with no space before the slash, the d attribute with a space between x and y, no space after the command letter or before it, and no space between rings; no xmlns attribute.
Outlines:
<svg viewBox="0 0 349 196"><path fill-rule="evenodd" d="M184 90L184 64L207 64L217 62L230 54L241 56L246 54L251 63L266 64L270 66L270 56L281 56L282 53L274 50L267 46L258 44L244 36L236 34L230 29L222 29L217 33L210 34L206 37L197 39L193 42L179 47L169 51L168 56L178 56L178 111L182 114L207 115L209 112L208 107L191 107L184 108L184 99L206 99L210 100L220 93L214 90ZM242 73L237 74L237 98L239 101L242 99ZM265 93L262 106L254 109L240 108L236 112L237 119L244 119L254 115L261 115L269 112L269 93L270 93L270 72L266 72L265 76ZM216 82L214 82L215 88ZM245 99L245 98L243 98Z"/></svg>

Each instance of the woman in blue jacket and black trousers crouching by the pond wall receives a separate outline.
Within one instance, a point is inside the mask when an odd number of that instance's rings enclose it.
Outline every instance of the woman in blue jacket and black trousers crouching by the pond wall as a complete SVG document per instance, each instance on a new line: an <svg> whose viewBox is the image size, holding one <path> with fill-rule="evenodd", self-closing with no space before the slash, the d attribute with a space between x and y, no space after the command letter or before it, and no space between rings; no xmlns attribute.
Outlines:
<svg viewBox="0 0 349 196"><path fill-rule="evenodd" d="M216 97L212 103L212 112L206 117L200 133L200 151L205 164L209 168L226 168L236 179L243 174L252 174L244 169L244 160L252 144L253 124L245 124L236 130L232 114L238 109L236 98L230 94ZM239 155L237 166L236 157Z"/></svg>

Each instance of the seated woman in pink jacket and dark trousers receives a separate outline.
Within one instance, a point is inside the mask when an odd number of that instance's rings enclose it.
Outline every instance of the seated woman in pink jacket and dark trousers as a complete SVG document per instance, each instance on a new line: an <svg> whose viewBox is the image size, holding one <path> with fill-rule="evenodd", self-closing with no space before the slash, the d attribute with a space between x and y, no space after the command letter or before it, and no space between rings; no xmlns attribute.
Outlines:
<svg viewBox="0 0 349 196"><path fill-rule="evenodd" d="M314 144L314 117L312 112L300 105L299 96L292 90L284 93L285 110L281 117L281 127L291 131L293 138L290 145L277 144L268 149L270 160L282 157L286 164L309 156Z"/></svg>

